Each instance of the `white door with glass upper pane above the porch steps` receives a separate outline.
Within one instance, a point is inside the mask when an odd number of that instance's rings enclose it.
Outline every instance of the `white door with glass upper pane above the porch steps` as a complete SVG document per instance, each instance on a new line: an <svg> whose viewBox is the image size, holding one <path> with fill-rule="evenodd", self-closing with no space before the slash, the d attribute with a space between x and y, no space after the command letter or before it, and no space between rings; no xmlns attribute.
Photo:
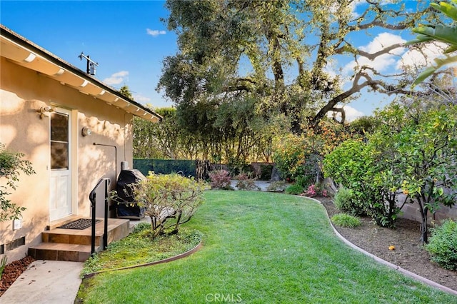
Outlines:
<svg viewBox="0 0 457 304"><path fill-rule="evenodd" d="M51 116L49 220L71 215L71 111L54 108Z"/></svg>

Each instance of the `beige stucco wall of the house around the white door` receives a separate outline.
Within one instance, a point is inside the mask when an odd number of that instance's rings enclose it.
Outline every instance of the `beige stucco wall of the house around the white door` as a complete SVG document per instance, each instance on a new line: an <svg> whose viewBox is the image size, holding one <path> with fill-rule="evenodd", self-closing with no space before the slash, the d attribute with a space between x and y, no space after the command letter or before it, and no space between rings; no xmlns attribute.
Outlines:
<svg viewBox="0 0 457 304"><path fill-rule="evenodd" d="M16 191L9 196L14 203L26 207L22 228L12 230L12 221L0 223L0 245L26 237L25 246L6 252L9 260L16 260L24 257L27 245L41 242L41 231L49 225L49 117L40 118L37 110L41 106L59 106L72 111L76 156L73 163L77 168L74 213L81 216L90 215L89 193L99 178L111 178L112 188L121 161L128 161L131 166L132 115L4 58L0 66L0 143L9 150L25 153L24 158L36 171L32 176L21 175ZM91 129L91 136L81 135L84 126ZM111 146L116 146L116 159Z"/></svg>

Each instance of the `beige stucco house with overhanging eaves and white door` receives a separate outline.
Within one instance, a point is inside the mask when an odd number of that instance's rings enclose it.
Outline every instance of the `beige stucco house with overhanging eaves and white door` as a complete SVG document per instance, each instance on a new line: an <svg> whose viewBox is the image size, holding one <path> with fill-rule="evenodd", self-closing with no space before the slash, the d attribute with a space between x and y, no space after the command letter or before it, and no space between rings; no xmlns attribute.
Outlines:
<svg viewBox="0 0 457 304"><path fill-rule="evenodd" d="M133 163L132 118L161 117L1 24L0 43L0 143L36 171L9 191L21 221L0 223L0 256L12 261L53 224L89 217L99 178L114 188L121 163Z"/></svg>

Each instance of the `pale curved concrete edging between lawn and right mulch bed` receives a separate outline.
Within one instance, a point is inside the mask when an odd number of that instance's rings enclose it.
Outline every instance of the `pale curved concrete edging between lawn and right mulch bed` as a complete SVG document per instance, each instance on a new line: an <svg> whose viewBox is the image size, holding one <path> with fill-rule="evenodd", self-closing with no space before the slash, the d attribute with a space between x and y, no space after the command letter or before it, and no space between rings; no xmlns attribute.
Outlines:
<svg viewBox="0 0 457 304"><path fill-rule="evenodd" d="M309 197L307 197L307 198L309 198ZM322 203L320 201L316 200L316 198L309 198L309 199L311 199L313 201L316 201L317 203L322 205ZM423 277L421 277L421 275L417 275L416 273L412 273L411 271L403 269L398 265L395 265L395 264L392 264L392 263L390 263L390 262L388 262L386 260L383 260L382 258L378 258L376 255L368 253L368 251L363 250L362 248L358 247L357 245L354 245L353 243L351 243L349 240L346 240L346 238L344 238L343 235L341 235L338 232L338 230L336 230L335 226L333 226L333 223L331 223L330 217L328 216L328 212L327 212L327 209L325 207L324 207L324 210L326 211L328 222L330 223L331 228L333 228L333 231L335 232L335 234L338 236L338 238L343 240L343 242L346 243L347 245L349 245L351 248L353 248L355 250L358 250L359 252L363 253L364 255L367 255L370 258L373 258L373 260L376 260L376 262L378 262L378 263L381 263L381 264L386 265L386 266L388 266L390 268L393 268L394 270L399 271L400 273L403 273L403 275L406 275L406 276L408 276L410 278L413 278L415 280L421 281L422 283L430 285L430 286L432 286L434 288L438 288L440 290L443 290L446 293L451 293L453 295L457 295L457 290L453 290L451 288L448 288L446 286L443 286L441 284L433 282L433 280L428 280L428 278L423 278Z"/></svg>

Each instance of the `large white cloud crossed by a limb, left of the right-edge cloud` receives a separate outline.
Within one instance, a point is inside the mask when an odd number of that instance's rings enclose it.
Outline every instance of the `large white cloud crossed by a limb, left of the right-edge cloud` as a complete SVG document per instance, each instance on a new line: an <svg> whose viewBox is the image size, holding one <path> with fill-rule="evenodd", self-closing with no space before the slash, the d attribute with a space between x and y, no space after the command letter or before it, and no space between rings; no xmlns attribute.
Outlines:
<svg viewBox="0 0 457 304"><path fill-rule="evenodd" d="M390 33L381 33L373 39L369 44L366 46L361 46L360 49L362 51L368 52L368 54L376 53L377 51L381 51L388 46L393 44L404 43L406 40L401 38L401 36L393 35ZM393 49L389 52L389 54L383 54L381 56L376 57L374 60L370 60L363 56L358 56L356 61L351 61L343 68L343 72L348 74L349 72L353 71L354 67L356 66L371 66L376 71L382 72L392 67L396 67L396 62L398 61L398 56L403 54L404 48L397 48Z"/></svg>

